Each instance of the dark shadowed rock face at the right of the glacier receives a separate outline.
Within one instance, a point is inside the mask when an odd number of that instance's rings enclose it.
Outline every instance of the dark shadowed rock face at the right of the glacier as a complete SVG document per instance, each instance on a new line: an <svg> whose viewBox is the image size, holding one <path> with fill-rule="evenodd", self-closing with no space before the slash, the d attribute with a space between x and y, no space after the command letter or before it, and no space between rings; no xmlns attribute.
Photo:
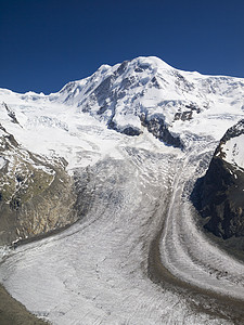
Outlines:
<svg viewBox="0 0 244 325"><path fill-rule="evenodd" d="M223 239L244 236L244 170L227 162L221 150L228 140L243 133L244 120L227 131L198 186L198 209L207 218L205 229Z"/></svg>

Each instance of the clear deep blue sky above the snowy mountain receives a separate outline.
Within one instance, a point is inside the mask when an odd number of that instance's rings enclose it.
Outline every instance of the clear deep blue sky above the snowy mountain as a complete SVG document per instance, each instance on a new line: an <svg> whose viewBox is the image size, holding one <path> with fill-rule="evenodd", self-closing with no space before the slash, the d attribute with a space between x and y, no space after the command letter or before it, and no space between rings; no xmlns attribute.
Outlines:
<svg viewBox="0 0 244 325"><path fill-rule="evenodd" d="M0 88L50 93L139 55L244 77L244 1L0 0Z"/></svg>

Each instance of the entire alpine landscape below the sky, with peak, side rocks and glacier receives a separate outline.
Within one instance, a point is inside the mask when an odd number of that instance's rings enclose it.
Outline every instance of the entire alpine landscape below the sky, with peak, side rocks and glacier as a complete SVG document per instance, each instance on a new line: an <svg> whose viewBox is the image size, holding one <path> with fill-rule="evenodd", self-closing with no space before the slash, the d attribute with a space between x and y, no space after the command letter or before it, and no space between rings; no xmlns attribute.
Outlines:
<svg viewBox="0 0 244 325"><path fill-rule="evenodd" d="M0 89L0 282L37 317L244 323L244 79L138 57Z"/></svg>

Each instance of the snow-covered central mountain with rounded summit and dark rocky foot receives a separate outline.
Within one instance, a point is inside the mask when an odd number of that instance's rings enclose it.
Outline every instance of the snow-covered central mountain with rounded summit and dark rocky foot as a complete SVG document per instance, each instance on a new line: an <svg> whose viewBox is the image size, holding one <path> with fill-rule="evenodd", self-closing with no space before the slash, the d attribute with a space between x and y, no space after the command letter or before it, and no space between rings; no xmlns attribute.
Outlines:
<svg viewBox="0 0 244 325"><path fill-rule="evenodd" d="M50 100L75 106L125 134L138 135L146 127L159 140L184 146L181 138L189 132L206 132L198 126L204 117L218 119L226 113L231 119L234 108L243 112L243 89L242 79L180 72L157 57L139 57L101 66ZM198 132L182 130L182 122L191 119Z"/></svg>

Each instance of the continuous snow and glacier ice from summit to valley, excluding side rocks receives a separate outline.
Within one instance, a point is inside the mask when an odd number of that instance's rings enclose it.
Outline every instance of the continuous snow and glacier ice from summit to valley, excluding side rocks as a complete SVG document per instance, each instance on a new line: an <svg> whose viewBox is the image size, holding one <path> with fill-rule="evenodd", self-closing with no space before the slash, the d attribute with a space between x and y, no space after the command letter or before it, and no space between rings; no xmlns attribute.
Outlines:
<svg viewBox="0 0 244 325"><path fill-rule="evenodd" d="M139 57L50 95L0 90L0 101L12 109L0 106L1 126L29 151L64 157L80 186L89 177L91 196L69 229L0 249L0 282L14 298L59 325L243 324L244 264L201 232L190 202L219 140L244 117L243 79ZM164 120L183 150L156 139L142 116ZM226 159L243 168L243 135L231 141Z"/></svg>

